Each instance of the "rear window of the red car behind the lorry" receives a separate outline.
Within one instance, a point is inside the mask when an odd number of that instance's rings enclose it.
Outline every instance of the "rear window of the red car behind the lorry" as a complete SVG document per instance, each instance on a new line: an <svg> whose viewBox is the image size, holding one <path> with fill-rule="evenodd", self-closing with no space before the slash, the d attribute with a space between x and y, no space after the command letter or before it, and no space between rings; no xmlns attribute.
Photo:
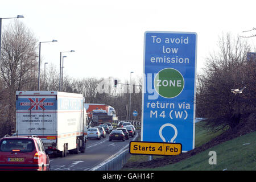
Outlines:
<svg viewBox="0 0 256 182"><path fill-rule="evenodd" d="M34 147L34 142L31 139L3 139L0 143L0 151L2 152L11 152L13 150L32 152Z"/></svg>

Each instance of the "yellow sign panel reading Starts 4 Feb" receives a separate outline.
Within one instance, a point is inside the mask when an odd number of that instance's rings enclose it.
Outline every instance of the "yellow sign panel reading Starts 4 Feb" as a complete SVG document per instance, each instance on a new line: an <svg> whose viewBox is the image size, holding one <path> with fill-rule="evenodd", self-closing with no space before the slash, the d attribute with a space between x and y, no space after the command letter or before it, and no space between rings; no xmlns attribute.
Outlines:
<svg viewBox="0 0 256 182"><path fill-rule="evenodd" d="M181 143L162 142L130 142L130 154L141 155L179 155L182 152Z"/></svg>

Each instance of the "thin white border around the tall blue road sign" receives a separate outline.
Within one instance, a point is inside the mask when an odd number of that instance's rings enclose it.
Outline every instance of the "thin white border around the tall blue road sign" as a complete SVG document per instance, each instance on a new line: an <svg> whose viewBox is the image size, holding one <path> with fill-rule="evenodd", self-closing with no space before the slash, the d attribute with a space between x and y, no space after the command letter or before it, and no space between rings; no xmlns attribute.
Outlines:
<svg viewBox="0 0 256 182"><path fill-rule="evenodd" d="M196 120L196 67L197 67L197 33L196 32L182 32L182 31L145 31L144 43L143 43L143 82L142 90L144 90L145 82L145 52L146 52L146 34L147 33L163 33L163 34L195 34L196 35L196 47L195 47L195 82L194 82L194 110L193 110L193 148L195 148L195 120ZM143 91L144 92L144 91ZM143 124L144 124L144 93L142 94L142 116L141 116L141 141L143 141ZM182 151L188 152L188 151Z"/></svg>

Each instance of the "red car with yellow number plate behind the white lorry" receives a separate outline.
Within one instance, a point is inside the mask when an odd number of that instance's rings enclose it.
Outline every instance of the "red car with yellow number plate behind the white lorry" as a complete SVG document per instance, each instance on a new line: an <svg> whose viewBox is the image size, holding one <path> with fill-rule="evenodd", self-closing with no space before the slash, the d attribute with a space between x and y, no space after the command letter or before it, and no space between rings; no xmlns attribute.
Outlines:
<svg viewBox="0 0 256 182"><path fill-rule="evenodd" d="M50 162L40 138L7 137L0 140L0 170L48 171Z"/></svg>

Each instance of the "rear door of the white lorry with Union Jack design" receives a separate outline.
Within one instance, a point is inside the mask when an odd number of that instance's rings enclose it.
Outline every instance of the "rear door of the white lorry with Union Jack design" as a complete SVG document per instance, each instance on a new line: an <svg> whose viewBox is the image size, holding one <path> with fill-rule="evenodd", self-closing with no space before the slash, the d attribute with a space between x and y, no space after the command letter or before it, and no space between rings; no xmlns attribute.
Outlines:
<svg viewBox="0 0 256 182"><path fill-rule="evenodd" d="M56 95L16 95L16 133L56 142Z"/></svg>

